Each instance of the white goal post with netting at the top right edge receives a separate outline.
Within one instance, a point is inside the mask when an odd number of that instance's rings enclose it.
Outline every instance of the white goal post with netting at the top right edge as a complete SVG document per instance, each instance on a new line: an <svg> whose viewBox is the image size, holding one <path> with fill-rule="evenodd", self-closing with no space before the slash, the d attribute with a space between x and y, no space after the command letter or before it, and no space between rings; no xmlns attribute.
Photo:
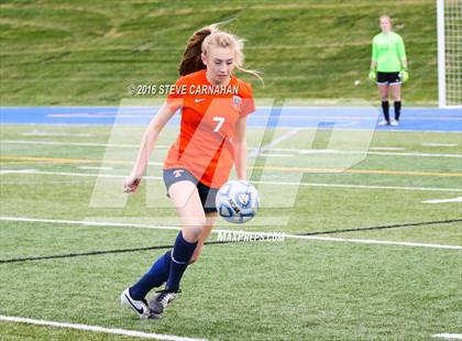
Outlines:
<svg viewBox="0 0 462 341"><path fill-rule="evenodd" d="M437 0L438 105L462 108L462 0Z"/></svg>

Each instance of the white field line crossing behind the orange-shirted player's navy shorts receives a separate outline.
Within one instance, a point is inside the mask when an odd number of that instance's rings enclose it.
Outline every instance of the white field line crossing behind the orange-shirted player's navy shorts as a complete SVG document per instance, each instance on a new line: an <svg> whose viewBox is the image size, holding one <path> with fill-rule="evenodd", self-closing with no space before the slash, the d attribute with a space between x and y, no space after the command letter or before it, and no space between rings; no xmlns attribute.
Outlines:
<svg viewBox="0 0 462 341"><path fill-rule="evenodd" d="M151 164L151 163L150 163ZM61 176L80 176L80 177L107 177L107 178L125 178L127 175L103 174L103 173L69 173L69 172L48 172L37 169L1 169L2 174L35 174L35 175L61 175ZM161 176L143 176L144 179L163 180ZM322 184L322 183L296 183L296 182L260 182L254 184L278 185L278 186L304 186L304 187L331 187L331 188L359 188L359 189L395 189L395 190L421 190L421 191L454 191L462 193L462 188L444 188L444 187L406 187L406 186L375 186L375 185L351 185L351 184Z"/></svg>

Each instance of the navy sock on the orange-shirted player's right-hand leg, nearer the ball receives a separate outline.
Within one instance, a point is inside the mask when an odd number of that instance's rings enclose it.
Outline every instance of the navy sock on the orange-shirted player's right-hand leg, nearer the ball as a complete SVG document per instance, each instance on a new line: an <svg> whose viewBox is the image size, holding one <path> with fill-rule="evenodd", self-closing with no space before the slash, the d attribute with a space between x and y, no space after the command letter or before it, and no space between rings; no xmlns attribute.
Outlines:
<svg viewBox="0 0 462 341"><path fill-rule="evenodd" d="M182 280L183 273L189 264L193 257L194 251L196 250L197 242L189 243L183 238L182 231L179 231L174 249L172 251L172 265L170 273L168 275L166 289L169 292L177 292L179 289L179 282Z"/></svg>

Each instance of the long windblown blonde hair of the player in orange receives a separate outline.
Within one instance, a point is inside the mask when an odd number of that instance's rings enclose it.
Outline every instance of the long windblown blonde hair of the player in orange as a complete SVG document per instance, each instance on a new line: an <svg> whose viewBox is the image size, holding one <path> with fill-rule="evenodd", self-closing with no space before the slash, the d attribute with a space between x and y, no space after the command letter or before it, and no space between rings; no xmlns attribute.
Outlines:
<svg viewBox="0 0 462 341"><path fill-rule="evenodd" d="M206 69L200 55L208 55L211 46L231 47L234 50L234 66L246 74L251 74L263 82L260 72L244 68L244 40L239 36L221 31L219 24L211 24L196 31L188 40L182 63L179 64L179 75L188 74Z"/></svg>

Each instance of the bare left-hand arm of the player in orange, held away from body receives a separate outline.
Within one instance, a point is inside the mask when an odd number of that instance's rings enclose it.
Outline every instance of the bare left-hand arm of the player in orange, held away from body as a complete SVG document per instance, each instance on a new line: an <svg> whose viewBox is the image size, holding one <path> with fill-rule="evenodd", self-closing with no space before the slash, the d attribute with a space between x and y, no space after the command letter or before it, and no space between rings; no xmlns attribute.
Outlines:
<svg viewBox="0 0 462 341"><path fill-rule="evenodd" d="M175 109L164 103L157 113L151 120L147 125L143 138L141 139L140 150L138 152L136 161L133 165L133 169L130 176L125 179L123 184L124 193L135 193L138 186L140 185L141 177L146 169L147 163L150 161L151 152L154 147L154 144L157 141L158 134L162 129L168 122L168 120L175 114Z"/></svg>

